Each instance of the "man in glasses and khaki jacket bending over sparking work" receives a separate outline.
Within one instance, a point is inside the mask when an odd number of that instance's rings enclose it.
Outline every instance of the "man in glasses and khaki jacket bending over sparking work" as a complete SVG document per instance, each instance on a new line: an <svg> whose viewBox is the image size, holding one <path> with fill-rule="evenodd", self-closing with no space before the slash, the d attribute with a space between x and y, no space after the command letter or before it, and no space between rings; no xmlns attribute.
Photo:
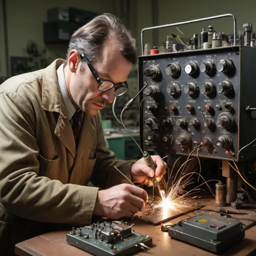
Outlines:
<svg viewBox="0 0 256 256"><path fill-rule="evenodd" d="M57 59L1 84L4 255L16 242L46 231L46 223L84 225L93 214L132 217L144 207L146 192L126 184L113 166L133 182L151 185L150 177L160 180L166 164L152 156L154 173L143 159L116 159L98 111L127 91L125 81L135 61L131 34L115 16L103 14L74 32L66 61ZM95 187L86 186L89 180Z"/></svg>

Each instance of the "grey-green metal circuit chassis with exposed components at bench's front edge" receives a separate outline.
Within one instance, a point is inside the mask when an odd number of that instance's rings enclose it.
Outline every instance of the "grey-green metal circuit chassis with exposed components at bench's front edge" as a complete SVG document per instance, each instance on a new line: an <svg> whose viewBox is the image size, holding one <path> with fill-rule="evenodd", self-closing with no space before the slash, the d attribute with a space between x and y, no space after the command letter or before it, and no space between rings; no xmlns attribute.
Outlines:
<svg viewBox="0 0 256 256"><path fill-rule="evenodd" d="M128 255L149 249L152 238L132 230L132 225L114 220L72 229L67 243L93 255Z"/></svg>

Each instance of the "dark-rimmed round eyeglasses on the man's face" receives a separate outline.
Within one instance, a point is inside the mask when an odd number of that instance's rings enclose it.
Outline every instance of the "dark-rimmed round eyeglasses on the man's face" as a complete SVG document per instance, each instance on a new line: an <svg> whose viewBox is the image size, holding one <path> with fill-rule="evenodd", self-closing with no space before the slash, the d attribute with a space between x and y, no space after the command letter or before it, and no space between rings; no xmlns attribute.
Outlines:
<svg viewBox="0 0 256 256"><path fill-rule="evenodd" d="M94 78L96 79L96 81L98 83L98 89L100 91L106 91L106 90L109 90L112 87L114 87L114 95L115 96L121 96L129 90L128 84L127 84L126 81L122 82L122 83L114 83L114 82L112 82L111 80L108 80L108 79L100 79L99 76L97 75L95 69L91 65L90 61L85 56L85 54L80 54L80 58L85 63L87 63L92 75L94 76Z"/></svg>

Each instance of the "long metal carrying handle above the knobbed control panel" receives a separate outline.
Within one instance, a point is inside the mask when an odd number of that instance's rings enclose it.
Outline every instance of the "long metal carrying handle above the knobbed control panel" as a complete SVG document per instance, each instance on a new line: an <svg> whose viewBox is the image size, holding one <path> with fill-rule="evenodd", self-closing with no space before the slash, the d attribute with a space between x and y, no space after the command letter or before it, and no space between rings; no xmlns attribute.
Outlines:
<svg viewBox="0 0 256 256"><path fill-rule="evenodd" d="M235 16L233 14L226 13L226 14L221 14L221 15L216 15L216 16L211 16L211 17L187 20L187 21L183 21L183 22L177 22L177 23L171 23L171 24L165 24L165 25L159 25L159 26L145 27L140 32L141 54L143 55L143 52L144 52L143 51L143 45L144 45L144 42L143 42L143 32L146 31L146 30L152 30L152 29L169 27L169 26L179 26L179 25L185 25L185 24L196 23L196 22L205 21L205 20L209 20L209 19L217 19L217 18L224 18L224 17L232 17L233 18L233 22L234 22L234 42L233 42L233 45L236 45L236 18L235 18Z"/></svg>

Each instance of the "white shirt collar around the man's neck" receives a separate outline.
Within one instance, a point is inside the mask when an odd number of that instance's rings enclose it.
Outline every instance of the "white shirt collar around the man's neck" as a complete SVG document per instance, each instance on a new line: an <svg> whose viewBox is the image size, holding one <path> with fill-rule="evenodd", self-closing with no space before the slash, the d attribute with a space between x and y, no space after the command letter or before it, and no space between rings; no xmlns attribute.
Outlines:
<svg viewBox="0 0 256 256"><path fill-rule="evenodd" d="M61 96L63 99L64 106L66 108L68 119L70 120L75 112L75 107L72 101L69 98L66 82L65 82L65 75L64 75L64 64L61 64L57 69L57 78L58 84L61 92Z"/></svg>

